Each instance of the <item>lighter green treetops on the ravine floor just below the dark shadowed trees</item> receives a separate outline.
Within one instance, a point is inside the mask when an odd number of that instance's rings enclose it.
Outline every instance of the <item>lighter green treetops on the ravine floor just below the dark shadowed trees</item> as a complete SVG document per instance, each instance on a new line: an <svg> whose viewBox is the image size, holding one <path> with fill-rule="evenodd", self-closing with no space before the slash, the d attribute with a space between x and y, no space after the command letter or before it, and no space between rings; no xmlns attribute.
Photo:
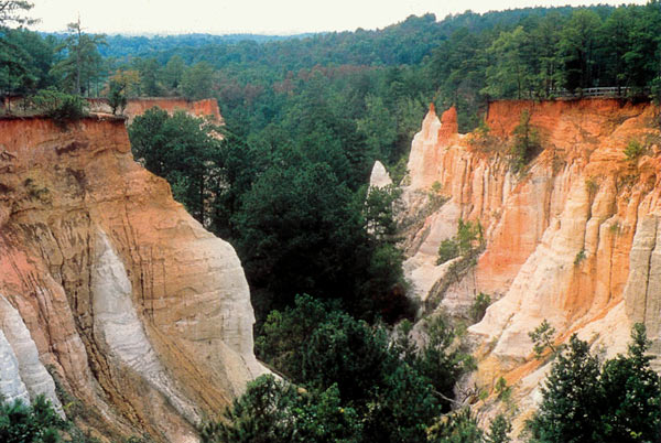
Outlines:
<svg viewBox="0 0 661 443"><path fill-rule="evenodd" d="M442 317L425 325L420 347L410 332L411 324L402 322L390 341L383 326L303 295L294 307L269 315L257 349L311 393L336 387L340 403L360 418L360 441L423 441L475 363Z"/></svg>

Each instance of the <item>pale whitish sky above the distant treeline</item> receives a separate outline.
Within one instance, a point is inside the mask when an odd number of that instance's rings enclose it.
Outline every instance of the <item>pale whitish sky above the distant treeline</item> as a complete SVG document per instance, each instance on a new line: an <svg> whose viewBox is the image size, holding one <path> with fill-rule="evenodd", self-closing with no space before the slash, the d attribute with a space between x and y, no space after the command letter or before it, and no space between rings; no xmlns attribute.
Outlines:
<svg viewBox="0 0 661 443"><path fill-rule="evenodd" d="M448 13L534 6L581 6L586 0L33 0L40 31L64 31L80 14L95 33L188 32L293 34L383 28L411 14ZM600 0L619 4L621 0ZM644 3L644 0L636 0Z"/></svg>

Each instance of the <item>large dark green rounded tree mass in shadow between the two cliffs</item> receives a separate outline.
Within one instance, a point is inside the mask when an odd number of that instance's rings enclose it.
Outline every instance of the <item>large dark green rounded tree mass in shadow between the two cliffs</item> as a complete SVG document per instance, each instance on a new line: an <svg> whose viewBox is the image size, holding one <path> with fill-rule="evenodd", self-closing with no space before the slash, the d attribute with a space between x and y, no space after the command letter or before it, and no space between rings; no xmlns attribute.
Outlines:
<svg viewBox="0 0 661 443"><path fill-rule="evenodd" d="M351 312L373 318L405 302L398 289L403 257L392 238L394 191L371 192L366 205L365 194L356 198L328 163L283 154L257 177L232 218L251 282L279 294L273 307L306 292L344 299Z"/></svg>

